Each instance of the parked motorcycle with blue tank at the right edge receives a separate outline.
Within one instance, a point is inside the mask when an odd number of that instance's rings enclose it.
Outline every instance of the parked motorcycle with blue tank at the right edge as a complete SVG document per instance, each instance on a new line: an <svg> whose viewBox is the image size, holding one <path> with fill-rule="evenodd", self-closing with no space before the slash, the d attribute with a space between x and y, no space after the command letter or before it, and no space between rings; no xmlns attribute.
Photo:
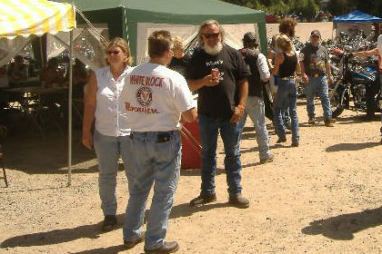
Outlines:
<svg viewBox="0 0 382 254"><path fill-rule="evenodd" d="M360 61L353 54L342 53L339 75L329 86L329 100L333 117L345 109L374 114L380 110L381 98L377 64L374 60ZM350 101L354 105L350 105Z"/></svg>

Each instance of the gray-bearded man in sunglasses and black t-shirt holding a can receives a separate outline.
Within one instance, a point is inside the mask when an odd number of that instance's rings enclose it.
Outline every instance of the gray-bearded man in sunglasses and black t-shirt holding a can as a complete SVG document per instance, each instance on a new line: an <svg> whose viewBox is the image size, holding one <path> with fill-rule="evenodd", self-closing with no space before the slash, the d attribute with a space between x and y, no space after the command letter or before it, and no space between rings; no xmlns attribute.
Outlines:
<svg viewBox="0 0 382 254"><path fill-rule="evenodd" d="M202 186L190 205L202 205L216 200L216 144L220 132L226 153L225 169L229 203L239 208L249 207L241 194L240 118L246 109L250 72L241 55L223 44L224 34L215 20L199 28L200 47L196 48L186 78L191 91L198 93L197 111L202 142Z"/></svg>

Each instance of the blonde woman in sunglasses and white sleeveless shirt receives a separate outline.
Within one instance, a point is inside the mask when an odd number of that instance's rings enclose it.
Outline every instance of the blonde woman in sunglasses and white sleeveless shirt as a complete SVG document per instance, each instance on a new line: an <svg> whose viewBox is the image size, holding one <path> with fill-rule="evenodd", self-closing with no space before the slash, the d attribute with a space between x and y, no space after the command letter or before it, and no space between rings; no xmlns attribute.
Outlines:
<svg viewBox="0 0 382 254"><path fill-rule="evenodd" d="M103 230L116 226L116 175L119 156L127 168L130 157L130 128L121 93L125 78L133 70L130 49L122 38L113 39L106 48L107 66L90 73L85 95L83 138L85 147L94 143L99 161L99 195L105 220ZM92 133L95 122L94 135Z"/></svg>

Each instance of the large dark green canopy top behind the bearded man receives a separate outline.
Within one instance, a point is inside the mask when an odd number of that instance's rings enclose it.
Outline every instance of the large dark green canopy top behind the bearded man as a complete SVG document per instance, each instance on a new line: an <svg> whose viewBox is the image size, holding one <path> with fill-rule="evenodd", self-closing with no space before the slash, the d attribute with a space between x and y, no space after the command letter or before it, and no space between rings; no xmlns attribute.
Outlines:
<svg viewBox="0 0 382 254"><path fill-rule="evenodd" d="M266 14L246 7L217 0L75 0L74 3L90 22L106 23L111 38L128 39L134 56L138 23L201 24L208 19L216 19L220 24L257 24L261 51L266 52Z"/></svg>

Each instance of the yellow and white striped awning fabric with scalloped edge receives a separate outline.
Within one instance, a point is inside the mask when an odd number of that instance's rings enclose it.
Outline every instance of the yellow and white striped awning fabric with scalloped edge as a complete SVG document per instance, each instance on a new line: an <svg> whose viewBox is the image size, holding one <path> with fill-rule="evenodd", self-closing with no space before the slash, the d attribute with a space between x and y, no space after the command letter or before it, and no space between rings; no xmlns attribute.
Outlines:
<svg viewBox="0 0 382 254"><path fill-rule="evenodd" d="M1 0L0 38L56 34L75 28L75 7L46 0Z"/></svg>

